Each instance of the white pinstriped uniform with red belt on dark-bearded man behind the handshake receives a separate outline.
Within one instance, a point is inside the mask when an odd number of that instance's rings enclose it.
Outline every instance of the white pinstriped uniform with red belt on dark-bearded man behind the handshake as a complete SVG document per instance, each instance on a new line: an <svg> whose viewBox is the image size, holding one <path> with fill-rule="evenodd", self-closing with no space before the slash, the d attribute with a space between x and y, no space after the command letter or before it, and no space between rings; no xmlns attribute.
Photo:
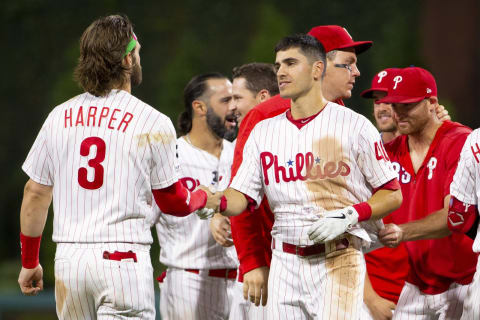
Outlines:
<svg viewBox="0 0 480 320"><path fill-rule="evenodd" d="M177 145L180 180L187 188L193 191L200 184L218 191L227 188L233 161L231 142L223 141L220 158L193 146L187 137L179 138ZM220 246L209 221L196 215L160 215L156 228L162 247L160 262L168 267L161 286L162 319L227 319L238 267L235 248Z"/></svg>

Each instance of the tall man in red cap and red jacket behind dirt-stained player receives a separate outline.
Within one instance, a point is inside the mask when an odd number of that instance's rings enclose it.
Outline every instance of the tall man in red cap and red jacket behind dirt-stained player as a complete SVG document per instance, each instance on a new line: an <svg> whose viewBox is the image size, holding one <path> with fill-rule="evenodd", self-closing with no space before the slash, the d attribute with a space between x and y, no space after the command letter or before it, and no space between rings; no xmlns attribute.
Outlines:
<svg viewBox="0 0 480 320"><path fill-rule="evenodd" d="M342 99L350 98L351 84L355 83L356 77L360 75L356 67L357 54L368 49L372 42L354 41L346 29L340 26L317 26L312 28L309 34L324 44L327 53L326 75L322 86L323 94L327 100L343 105ZM329 55L329 52L332 51L336 51L336 53ZM335 89L332 93L325 90L325 86L331 86L328 84L329 81L337 83L340 89ZM289 107L289 99L283 99L280 95L276 95L259 104L247 114L239 129L232 176L236 174L242 163L243 147L256 124L285 112ZM246 276L244 278L244 297L245 299L250 298L257 306L260 303L265 305L267 302L273 220L273 213L266 198L254 213L244 212L240 216L231 217L232 236L240 260L240 270Z"/></svg>

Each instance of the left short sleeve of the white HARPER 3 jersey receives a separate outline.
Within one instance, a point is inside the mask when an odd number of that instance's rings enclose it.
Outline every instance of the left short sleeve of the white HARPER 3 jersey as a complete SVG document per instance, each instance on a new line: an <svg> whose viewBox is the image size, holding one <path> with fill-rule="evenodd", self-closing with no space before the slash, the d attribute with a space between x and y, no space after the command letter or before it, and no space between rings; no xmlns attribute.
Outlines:
<svg viewBox="0 0 480 320"><path fill-rule="evenodd" d="M47 132L50 128L51 114L45 120L37 139L33 143L22 168L33 181L51 186L53 185L53 163L48 146Z"/></svg>

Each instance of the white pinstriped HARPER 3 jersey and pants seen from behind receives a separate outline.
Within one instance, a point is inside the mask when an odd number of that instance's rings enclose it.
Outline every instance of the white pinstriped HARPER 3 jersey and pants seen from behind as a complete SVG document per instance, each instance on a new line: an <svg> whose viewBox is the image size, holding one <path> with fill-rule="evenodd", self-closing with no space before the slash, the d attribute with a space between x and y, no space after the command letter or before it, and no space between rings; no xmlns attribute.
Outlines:
<svg viewBox="0 0 480 320"><path fill-rule="evenodd" d="M152 189L177 181L175 145L170 119L122 90L50 113L22 168L53 185L59 318L154 318Z"/></svg>

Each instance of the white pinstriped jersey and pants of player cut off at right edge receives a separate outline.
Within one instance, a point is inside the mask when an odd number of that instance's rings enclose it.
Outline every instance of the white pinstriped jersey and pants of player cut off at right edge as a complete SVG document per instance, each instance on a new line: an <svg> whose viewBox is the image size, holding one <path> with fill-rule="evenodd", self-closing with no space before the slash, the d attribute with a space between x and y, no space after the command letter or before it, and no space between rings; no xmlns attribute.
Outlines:
<svg viewBox="0 0 480 320"><path fill-rule="evenodd" d="M465 141L458 168L450 185L450 194L459 201L478 206L480 197L480 129L474 130ZM478 211L477 211L478 214ZM473 242L473 252L480 252L480 225ZM463 306L462 319L480 318L480 260Z"/></svg>

